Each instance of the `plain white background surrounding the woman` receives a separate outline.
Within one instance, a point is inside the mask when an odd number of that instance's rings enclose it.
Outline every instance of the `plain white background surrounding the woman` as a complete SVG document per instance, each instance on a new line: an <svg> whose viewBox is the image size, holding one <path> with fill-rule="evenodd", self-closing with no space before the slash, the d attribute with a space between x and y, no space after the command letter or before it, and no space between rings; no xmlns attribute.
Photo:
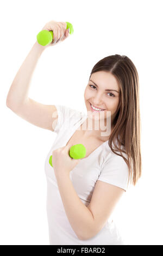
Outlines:
<svg viewBox="0 0 163 256"><path fill-rule="evenodd" d="M45 23L71 22L74 34L48 47L37 63L29 97L86 111L93 66L128 56L140 80L142 177L115 209L128 245L163 245L162 1L1 1L1 245L49 245L45 159L56 134L6 106L14 77Z"/></svg>

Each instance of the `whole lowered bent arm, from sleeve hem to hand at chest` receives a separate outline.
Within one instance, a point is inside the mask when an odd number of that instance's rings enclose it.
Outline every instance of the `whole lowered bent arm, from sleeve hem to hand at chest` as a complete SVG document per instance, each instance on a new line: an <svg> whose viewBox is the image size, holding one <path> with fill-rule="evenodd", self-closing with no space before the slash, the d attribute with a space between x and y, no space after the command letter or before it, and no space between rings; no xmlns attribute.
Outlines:
<svg viewBox="0 0 163 256"><path fill-rule="evenodd" d="M52 164L55 167L60 196L71 227L80 240L87 240L97 235L104 227L126 190L109 182L97 180L90 204L84 205L70 179L70 171L80 160L71 159L69 150L68 146L54 150ZM126 169L124 171L126 173Z"/></svg>

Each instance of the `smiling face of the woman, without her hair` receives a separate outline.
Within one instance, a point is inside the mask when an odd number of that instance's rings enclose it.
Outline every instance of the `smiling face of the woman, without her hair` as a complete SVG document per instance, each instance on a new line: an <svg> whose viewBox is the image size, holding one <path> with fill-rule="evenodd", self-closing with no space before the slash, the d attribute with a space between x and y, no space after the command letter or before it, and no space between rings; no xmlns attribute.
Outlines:
<svg viewBox="0 0 163 256"><path fill-rule="evenodd" d="M84 100L87 112L92 118L104 119L111 115L111 121L114 120L118 103L120 100L120 88L116 78L106 71L98 71L90 77L84 92ZM93 111L91 104L104 111ZM110 111L107 113L107 111ZM101 114L104 112L103 114ZM107 115L106 115L107 114Z"/></svg>

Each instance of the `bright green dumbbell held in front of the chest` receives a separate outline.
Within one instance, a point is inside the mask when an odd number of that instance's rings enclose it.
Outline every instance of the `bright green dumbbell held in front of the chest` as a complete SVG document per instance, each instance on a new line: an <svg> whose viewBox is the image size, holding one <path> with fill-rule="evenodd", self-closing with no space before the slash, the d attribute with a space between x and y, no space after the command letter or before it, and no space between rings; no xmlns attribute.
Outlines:
<svg viewBox="0 0 163 256"><path fill-rule="evenodd" d="M73 145L70 148L69 155L73 159L81 159L81 158L85 157L85 155L86 155L86 148L84 147L83 144ZM49 157L49 164L51 164L51 166L53 167L53 165L52 165L52 155Z"/></svg>

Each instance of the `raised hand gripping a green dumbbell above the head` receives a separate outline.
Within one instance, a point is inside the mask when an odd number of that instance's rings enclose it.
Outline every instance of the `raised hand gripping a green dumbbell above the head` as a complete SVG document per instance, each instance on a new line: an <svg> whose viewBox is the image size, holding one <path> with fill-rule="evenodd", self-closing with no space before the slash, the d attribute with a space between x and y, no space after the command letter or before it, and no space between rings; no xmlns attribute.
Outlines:
<svg viewBox="0 0 163 256"><path fill-rule="evenodd" d="M69 29L66 29L66 22L57 22L57 21L49 21L42 28L42 30L46 29L47 31L53 31L53 40L51 44L48 44L44 47L53 46L58 44L60 41L64 41L69 35Z"/></svg>

